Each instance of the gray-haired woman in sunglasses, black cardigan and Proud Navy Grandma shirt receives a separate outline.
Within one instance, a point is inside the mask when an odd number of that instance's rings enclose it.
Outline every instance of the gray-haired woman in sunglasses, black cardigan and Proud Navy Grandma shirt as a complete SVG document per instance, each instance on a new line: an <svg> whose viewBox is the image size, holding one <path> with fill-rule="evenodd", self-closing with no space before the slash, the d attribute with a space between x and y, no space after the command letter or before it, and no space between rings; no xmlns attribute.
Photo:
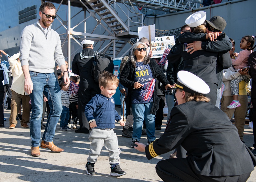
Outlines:
<svg viewBox="0 0 256 182"><path fill-rule="evenodd" d="M126 115L133 114L133 136L132 145L139 142L142 132L142 124L145 119L148 144L153 142L155 137L155 114L159 108L156 85L150 100L144 100L140 91L145 83L157 78L165 85L165 89L172 87L167 81L164 72L154 59L147 57L147 48L144 43L137 42L131 50L131 61L128 61L120 75L120 83L128 88L126 102Z"/></svg>

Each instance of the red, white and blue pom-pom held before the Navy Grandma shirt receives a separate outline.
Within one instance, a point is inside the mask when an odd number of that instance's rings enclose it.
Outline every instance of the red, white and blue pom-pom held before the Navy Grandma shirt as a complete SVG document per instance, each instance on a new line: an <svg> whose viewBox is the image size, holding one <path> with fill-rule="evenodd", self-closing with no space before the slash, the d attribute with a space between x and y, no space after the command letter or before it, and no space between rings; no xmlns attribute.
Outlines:
<svg viewBox="0 0 256 182"><path fill-rule="evenodd" d="M151 81L145 83L142 86L142 89L140 91L140 97L143 101L150 101L154 94L154 88L155 88L155 79L152 79Z"/></svg>

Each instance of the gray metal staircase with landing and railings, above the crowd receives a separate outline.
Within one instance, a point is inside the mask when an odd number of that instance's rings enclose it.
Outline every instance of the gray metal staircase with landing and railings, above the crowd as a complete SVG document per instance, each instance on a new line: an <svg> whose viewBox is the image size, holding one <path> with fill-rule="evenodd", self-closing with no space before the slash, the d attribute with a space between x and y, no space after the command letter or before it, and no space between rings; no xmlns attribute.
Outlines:
<svg viewBox="0 0 256 182"><path fill-rule="evenodd" d="M88 0L88 5L95 11L95 13L106 24L106 27L113 32L116 37L134 38L138 37L137 27L143 26L143 15L134 11L131 11L126 4L127 13L125 13L122 7L118 4L123 1L98 1ZM124 22L123 19L126 21ZM133 20L132 20L133 19ZM134 21L137 20L137 21ZM134 29L132 31L132 29ZM104 47L101 51L110 56L117 56L128 41L124 40L111 40L110 43ZM113 53L115 52L115 56Z"/></svg>

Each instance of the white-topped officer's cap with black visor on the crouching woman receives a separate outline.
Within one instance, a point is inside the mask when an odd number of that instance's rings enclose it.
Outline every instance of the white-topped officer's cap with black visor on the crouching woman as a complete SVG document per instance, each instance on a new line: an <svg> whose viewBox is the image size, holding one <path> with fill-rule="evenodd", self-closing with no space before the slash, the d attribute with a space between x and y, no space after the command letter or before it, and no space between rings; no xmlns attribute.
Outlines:
<svg viewBox="0 0 256 182"><path fill-rule="evenodd" d="M196 95L208 94L210 92L210 88L205 81L193 73L188 71L179 71L177 73L177 78L178 81L176 86L172 89L180 88L188 93Z"/></svg>

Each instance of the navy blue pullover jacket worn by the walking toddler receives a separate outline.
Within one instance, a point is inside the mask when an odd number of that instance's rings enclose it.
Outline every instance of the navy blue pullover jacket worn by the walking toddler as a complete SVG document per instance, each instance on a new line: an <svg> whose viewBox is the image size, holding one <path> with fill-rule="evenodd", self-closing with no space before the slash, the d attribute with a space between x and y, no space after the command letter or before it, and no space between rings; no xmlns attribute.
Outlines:
<svg viewBox="0 0 256 182"><path fill-rule="evenodd" d="M121 116L115 110L115 100L102 94L95 95L85 106L84 114L88 122L96 121L100 129L114 128L115 120L120 122Z"/></svg>

